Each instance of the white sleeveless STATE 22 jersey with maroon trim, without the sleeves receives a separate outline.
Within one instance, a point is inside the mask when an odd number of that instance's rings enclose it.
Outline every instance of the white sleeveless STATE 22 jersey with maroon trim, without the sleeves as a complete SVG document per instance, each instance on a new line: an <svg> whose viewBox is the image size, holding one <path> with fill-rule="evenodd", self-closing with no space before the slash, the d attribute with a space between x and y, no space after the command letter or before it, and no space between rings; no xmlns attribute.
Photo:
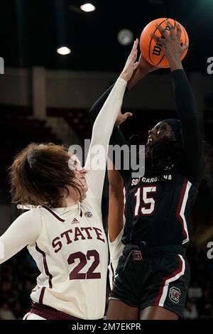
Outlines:
<svg viewBox="0 0 213 334"><path fill-rule="evenodd" d="M43 227L35 245L28 246L41 272L31 298L76 318L99 319L105 309L108 247L102 213L89 202L88 193L80 205L32 210Z"/></svg>

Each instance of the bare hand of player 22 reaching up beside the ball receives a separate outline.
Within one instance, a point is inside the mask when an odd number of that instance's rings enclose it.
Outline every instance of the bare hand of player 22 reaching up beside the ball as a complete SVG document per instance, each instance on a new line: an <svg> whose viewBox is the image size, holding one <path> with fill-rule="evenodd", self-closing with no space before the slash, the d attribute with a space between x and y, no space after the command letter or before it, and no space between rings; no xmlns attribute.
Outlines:
<svg viewBox="0 0 213 334"><path fill-rule="evenodd" d="M131 79L134 70L136 70L136 68L138 67L138 62L136 62L137 55L138 55L138 38L136 38L136 41L134 41L133 43L133 48L131 49L131 53L129 54L129 57L126 60L124 70L121 72L120 75L120 77L122 77L122 79L126 80L127 82Z"/></svg>

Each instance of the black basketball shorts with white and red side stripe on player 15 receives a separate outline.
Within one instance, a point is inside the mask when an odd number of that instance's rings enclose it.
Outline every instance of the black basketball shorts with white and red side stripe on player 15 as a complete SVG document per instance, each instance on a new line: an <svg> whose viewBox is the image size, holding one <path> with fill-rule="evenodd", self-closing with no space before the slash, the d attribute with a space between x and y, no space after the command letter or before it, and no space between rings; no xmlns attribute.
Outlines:
<svg viewBox="0 0 213 334"><path fill-rule="evenodd" d="M124 248L109 299L143 310L161 306L182 317L190 266L180 246L136 250Z"/></svg>

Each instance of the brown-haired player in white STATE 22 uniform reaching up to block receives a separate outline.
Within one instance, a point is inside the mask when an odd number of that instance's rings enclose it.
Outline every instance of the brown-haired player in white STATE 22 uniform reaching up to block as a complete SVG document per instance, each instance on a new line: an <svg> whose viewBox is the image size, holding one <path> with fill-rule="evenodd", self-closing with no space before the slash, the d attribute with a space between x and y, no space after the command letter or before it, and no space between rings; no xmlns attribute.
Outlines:
<svg viewBox="0 0 213 334"><path fill-rule="evenodd" d="M14 201L39 205L19 216L0 237L5 262L23 247L40 270L26 319L99 319L104 316L108 249L102 226L105 169L92 170L94 145L106 154L127 82L136 69L138 40L93 126L84 168L62 146L30 144L11 166ZM92 165L92 164L91 164Z"/></svg>

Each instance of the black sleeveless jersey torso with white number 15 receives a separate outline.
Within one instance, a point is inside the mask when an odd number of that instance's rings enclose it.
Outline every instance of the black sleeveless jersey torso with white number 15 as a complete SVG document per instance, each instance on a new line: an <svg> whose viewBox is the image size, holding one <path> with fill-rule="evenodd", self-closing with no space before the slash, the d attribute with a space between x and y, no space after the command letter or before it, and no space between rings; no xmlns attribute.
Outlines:
<svg viewBox="0 0 213 334"><path fill-rule="evenodd" d="M180 173L131 178L126 189L124 244L185 244L197 189Z"/></svg>

